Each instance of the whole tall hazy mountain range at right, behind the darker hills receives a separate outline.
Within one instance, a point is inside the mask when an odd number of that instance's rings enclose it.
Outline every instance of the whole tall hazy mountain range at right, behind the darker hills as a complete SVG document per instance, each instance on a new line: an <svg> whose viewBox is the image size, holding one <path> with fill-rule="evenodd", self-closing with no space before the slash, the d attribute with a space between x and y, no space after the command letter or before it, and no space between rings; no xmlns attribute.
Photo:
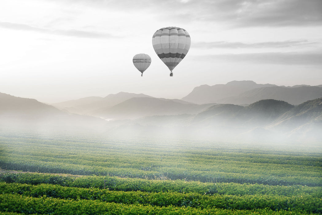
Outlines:
<svg viewBox="0 0 322 215"><path fill-rule="evenodd" d="M293 87L273 84L256 84L252 81L233 81L214 86L202 85L182 100L194 103L251 104L263 99L275 99L297 105L322 97L322 87L295 85Z"/></svg>

